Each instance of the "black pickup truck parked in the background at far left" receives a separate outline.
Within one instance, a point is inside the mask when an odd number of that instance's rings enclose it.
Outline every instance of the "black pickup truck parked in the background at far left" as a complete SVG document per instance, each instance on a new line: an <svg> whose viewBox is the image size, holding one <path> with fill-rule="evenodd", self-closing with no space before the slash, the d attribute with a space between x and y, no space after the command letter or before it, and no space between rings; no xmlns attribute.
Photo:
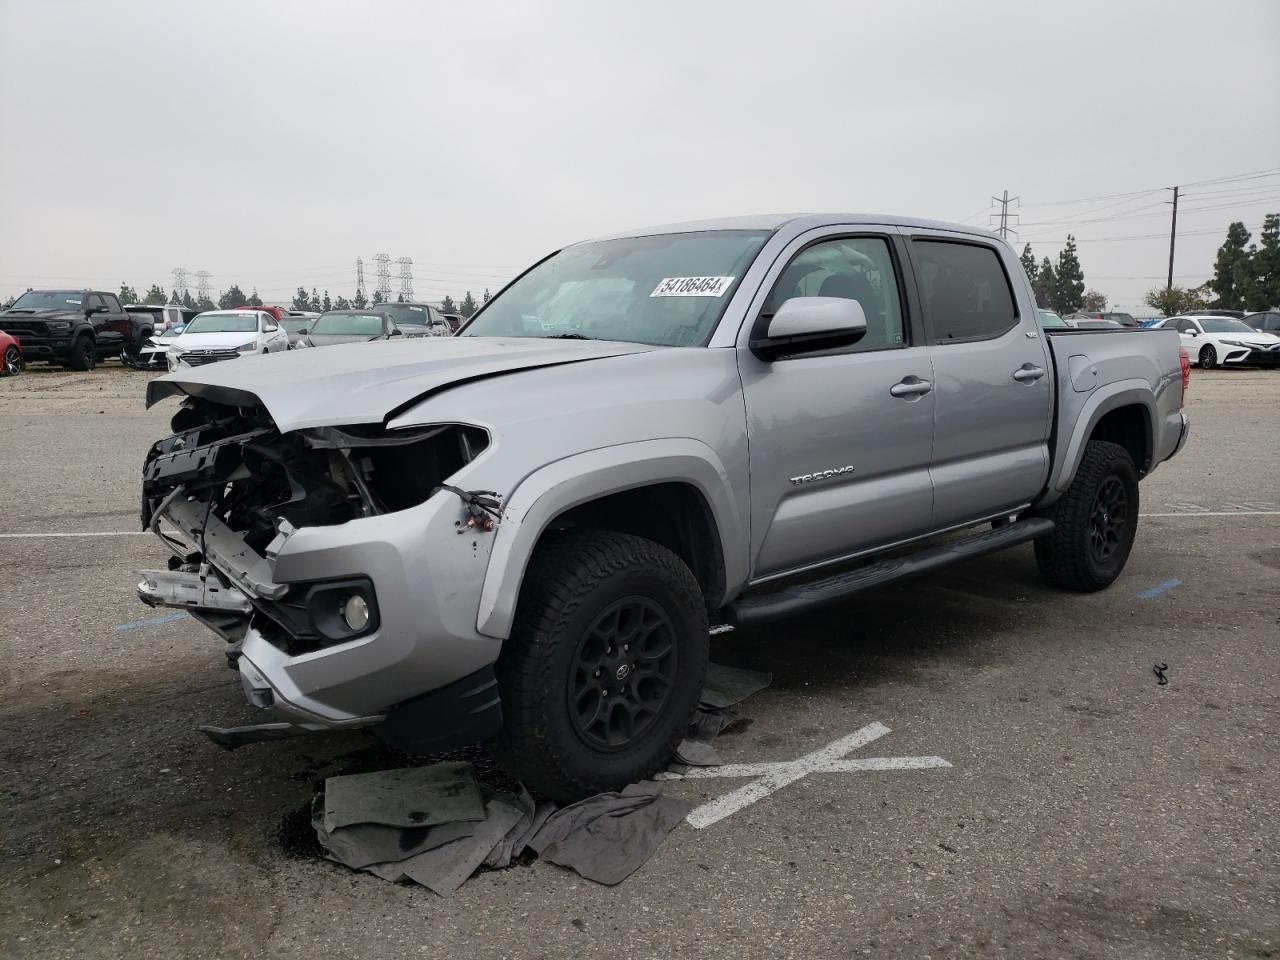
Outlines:
<svg viewBox="0 0 1280 960"><path fill-rule="evenodd" d="M0 330L22 340L27 362L92 370L99 360L137 349L137 320L106 291L27 291L0 311Z"/></svg>

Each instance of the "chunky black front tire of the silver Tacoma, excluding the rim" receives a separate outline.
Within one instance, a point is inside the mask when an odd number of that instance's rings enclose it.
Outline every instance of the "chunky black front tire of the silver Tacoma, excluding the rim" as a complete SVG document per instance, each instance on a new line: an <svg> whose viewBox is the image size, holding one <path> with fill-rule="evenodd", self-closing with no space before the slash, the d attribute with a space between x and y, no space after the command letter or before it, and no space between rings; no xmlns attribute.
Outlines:
<svg viewBox="0 0 1280 960"><path fill-rule="evenodd" d="M628 603L649 604L668 618L675 666L660 708L643 721L648 726L634 728L623 745L602 749L582 731L571 691L575 684L595 682L584 681L589 675L580 669L596 636L593 626ZM561 803L652 777L671 759L698 708L707 631L698 581L666 547L613 531L554 536L530 561L511 637L498 658L503 730L490 750L530 790ZM639 690L641 681L631 681Z"/></svg>

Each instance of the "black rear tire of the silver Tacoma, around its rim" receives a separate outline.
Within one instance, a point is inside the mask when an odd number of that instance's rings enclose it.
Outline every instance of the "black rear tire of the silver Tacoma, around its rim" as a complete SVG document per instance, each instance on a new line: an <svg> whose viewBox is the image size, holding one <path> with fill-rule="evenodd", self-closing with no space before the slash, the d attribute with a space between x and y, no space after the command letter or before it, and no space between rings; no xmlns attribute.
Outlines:
<svg viewBox="0 0 1280 960"><path fill-rule="evenodd" d="M1100 495L1124 495L1124 521L1116 530L1116 541L1108 556L1100 557L1093 545L1097 532ZM1114 520L1115 511L1102 516ZM1068 492L1048 513L1053 532L1036 540L1036 563L1041 576L1053 586L1092 593L1110 586L1124 570L1138 532L1138 470L1129 451L1117 443L1093 440L1084 448L1084 457Z"/></svg>

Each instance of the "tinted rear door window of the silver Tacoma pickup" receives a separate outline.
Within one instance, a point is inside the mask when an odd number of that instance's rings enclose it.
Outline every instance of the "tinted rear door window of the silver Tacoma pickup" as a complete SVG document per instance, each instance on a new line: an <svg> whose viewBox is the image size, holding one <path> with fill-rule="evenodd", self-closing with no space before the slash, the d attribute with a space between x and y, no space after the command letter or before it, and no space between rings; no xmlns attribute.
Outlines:
<svg viewBox="0 0 1280 960"><path fill-rule="evenodd" d="M920 296L938 343L986 340L1018 323L1014 293L991 247L913 241Z"/></svg>

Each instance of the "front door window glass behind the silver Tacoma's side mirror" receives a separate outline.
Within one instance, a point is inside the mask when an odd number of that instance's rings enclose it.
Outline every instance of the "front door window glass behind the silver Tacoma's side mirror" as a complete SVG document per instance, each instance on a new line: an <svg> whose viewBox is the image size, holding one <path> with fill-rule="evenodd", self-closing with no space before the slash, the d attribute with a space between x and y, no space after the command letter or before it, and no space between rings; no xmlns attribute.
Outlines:
<svg viewBox="0 0 1280 960"><path fill-rule="evenodd" d="M773 284L763 315L772 316L794 297L856 300L867 315L867 335L858 343L806 357L906 344L893 257L881 237L841 237L805 247Z"/></svg>

